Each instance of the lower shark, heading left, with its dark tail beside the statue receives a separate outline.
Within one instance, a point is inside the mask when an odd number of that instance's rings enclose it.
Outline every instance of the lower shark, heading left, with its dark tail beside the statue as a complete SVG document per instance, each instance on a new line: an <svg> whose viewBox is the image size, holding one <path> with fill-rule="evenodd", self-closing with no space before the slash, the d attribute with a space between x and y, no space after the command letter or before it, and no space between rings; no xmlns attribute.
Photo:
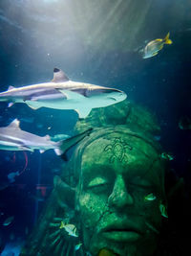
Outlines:
<svg viewBox="0 0 191 256"><path fill-rule="evenodd" d="M14 119L8 127L0 128L0 150L40 152L53 149L56 154L66 159L65 153L85 136L89 136L92 128L65 140L54 142L49 135L44 137L22 130L20 122Z"/></svg>

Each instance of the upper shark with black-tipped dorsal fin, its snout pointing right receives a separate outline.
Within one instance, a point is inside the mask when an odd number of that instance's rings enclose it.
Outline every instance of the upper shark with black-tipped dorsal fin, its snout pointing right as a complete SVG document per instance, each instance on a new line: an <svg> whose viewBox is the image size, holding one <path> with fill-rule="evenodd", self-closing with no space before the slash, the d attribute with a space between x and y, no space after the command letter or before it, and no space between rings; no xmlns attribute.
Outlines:
<svg viewBox="0 0 191 256"><path fill-rule="evenodd" d="M53 69L53 81L15 88L10 86L0 93L1 102L25 103L37 109L74 109L79 118L89 115L92 108L114 105L126 99L127 95L115 88L91 83L70 81L58 68Z"/></svg>

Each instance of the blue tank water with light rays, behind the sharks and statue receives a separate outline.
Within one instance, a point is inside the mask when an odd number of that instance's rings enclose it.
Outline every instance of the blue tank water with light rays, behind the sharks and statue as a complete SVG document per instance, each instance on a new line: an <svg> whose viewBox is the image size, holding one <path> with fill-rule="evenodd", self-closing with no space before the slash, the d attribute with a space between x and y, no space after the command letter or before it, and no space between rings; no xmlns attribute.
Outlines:
<svg viewBox="0 0 191 256"><path fill-rule="evenodd" d="M173 44L142 59L138 50L168 32ZM0 91L50 81L53 67L74 81L116 87L151 109L159 119L161 145L175 157L172 169L190 193L191 131L179 128L180 118L191 115L189 0L0 0ZM0 127L14 118L37 135L72 134L77 114L1 103ZM25 172L0 191L0 241L6 243L25 240L62 164L53 151L27 155ZM0 151L1 183L25 162L22 151ZM10 216L14 221L3 226Z"/></svg>

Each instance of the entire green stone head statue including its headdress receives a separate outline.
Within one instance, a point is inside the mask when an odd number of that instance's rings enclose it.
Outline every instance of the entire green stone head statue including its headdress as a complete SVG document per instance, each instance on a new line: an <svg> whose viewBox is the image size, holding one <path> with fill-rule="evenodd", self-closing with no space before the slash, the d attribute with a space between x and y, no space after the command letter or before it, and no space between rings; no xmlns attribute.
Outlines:
<svg viewBox="0 0 191 256"><path fill-rule="evenodd" d="M109 113L116 111L121 119L118 115L114 121ZM167 207L165 165L153 136L159 127L147 111L142 113L123 103L95 109L78 121L75 130L94 123L94 131L77 145L62 175L55 176L52 196L21 255L155 254L164 219L161 205ZM76 237L60 228L62 221L76 227Z"/></svg>

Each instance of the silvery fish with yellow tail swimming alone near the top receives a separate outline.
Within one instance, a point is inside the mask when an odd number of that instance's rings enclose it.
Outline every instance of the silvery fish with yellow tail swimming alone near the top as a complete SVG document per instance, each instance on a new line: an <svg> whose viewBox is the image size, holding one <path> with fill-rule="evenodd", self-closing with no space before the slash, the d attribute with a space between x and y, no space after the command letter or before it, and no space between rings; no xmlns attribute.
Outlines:
<svg viewBox="0 0 191 256"><path fill-rule="evenodd" d="M170 33L168 33L164 39L155 39L147 43L142 51L142 58L151 58L158 55L159 51L163 48L164 44L172 44L172 40L169 38Z"/></svg>

